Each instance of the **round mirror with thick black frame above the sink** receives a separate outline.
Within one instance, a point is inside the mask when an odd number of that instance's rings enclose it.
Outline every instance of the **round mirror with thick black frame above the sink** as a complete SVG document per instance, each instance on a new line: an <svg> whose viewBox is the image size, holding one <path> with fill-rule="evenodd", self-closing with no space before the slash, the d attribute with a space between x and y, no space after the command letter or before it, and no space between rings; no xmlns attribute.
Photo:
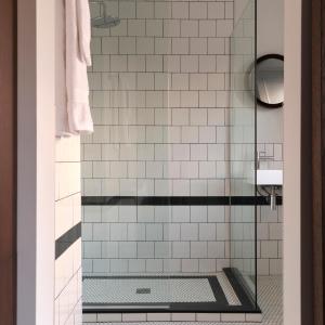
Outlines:
<svg viewBox="0 0 325 325"><path fill-rule="evenodd" d="M284 57L268 54L257 60L256 96L260 105L269 108L283 106L284 102Z"/></svg>

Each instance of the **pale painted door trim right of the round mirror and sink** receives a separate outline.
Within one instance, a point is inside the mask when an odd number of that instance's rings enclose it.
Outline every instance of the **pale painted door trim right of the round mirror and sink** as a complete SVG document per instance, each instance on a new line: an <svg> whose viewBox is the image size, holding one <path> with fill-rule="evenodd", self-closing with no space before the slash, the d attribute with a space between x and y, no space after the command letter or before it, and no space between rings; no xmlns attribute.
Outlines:
<svg viewBox="0 0 325 325"><path fill-rule="evenodd" d="M301 0L285 0L284 325L301 324Z"/></svg>

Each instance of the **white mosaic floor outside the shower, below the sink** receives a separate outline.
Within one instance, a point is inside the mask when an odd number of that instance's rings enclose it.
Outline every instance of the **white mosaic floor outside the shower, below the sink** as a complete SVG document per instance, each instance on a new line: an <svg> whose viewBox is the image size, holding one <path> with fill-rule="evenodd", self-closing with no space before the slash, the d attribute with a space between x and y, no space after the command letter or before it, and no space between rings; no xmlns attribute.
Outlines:
<svg viewBox="0 0 325 325"><path fill-rule="evenodd" d="M211 323L211 322L143 322L122 323L130 325L282 325L283 324L283 297L281 276L259 276L259 306L263 313L261 323ZM121 323L83 323L83 325L121 325Z"/></svg>

